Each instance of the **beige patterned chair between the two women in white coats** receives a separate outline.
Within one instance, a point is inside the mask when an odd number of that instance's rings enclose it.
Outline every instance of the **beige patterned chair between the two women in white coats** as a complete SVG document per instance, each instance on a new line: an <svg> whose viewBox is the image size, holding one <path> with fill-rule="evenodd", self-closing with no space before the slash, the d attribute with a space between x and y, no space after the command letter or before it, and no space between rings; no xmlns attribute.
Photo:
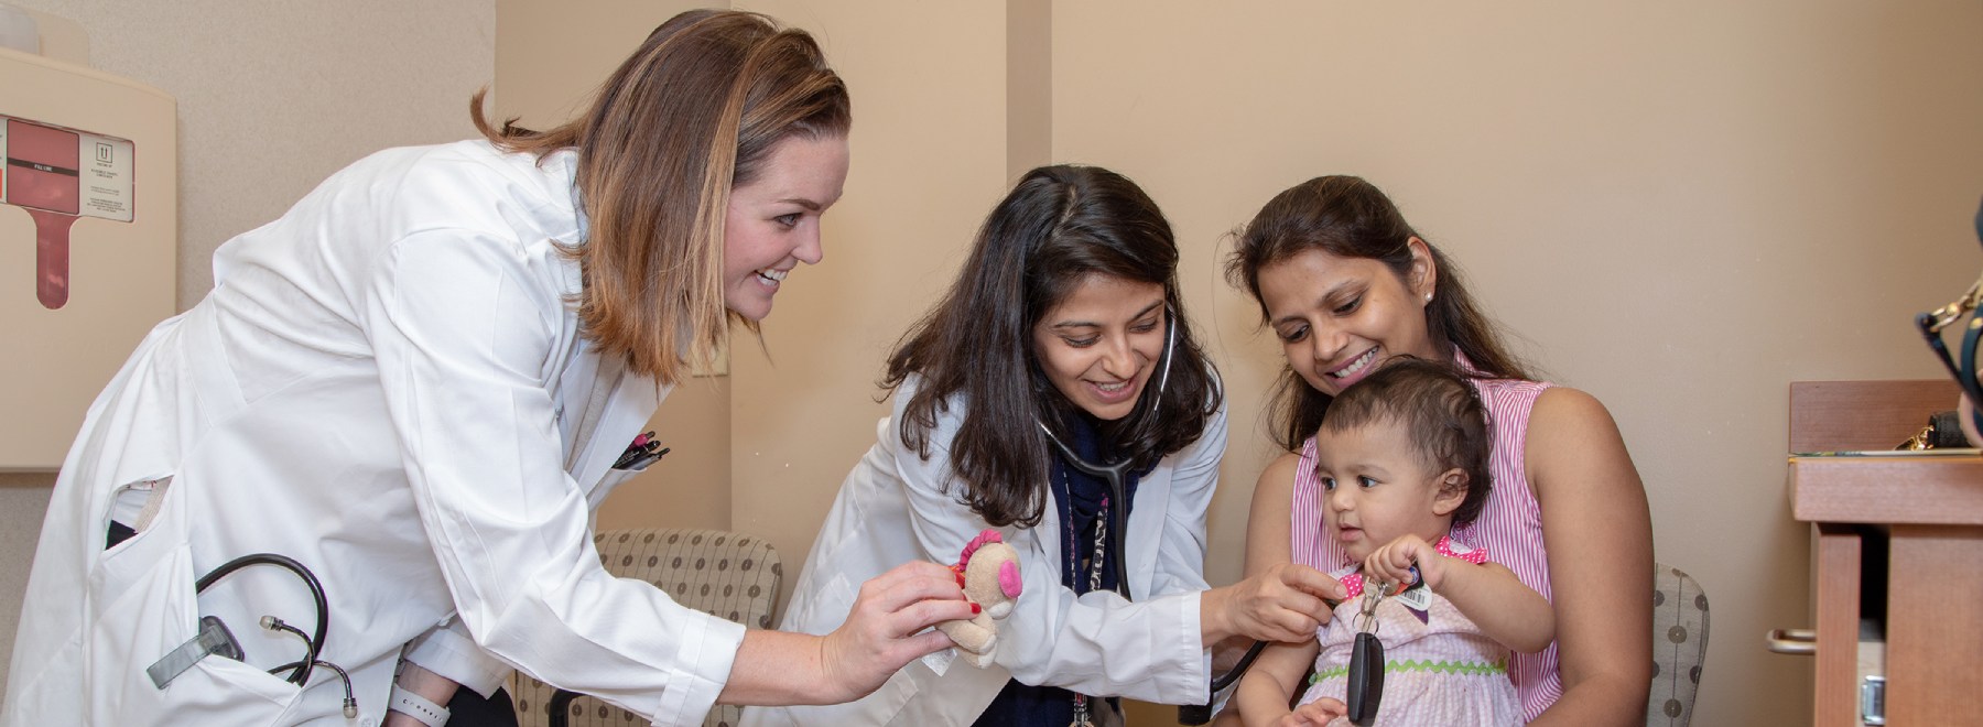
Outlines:
<svg viewBox="0 0 1983 727"><path fill-rule="evenodd" d="M666 590L674 602L752 628L771 628L771 608L785 569L761 537L730 531L623 529L593 535L607 572ZM545 727L555 687L524 674L510 677L522 727ZM571 727L644 725L639 715L581 697L565 709ZM718 705L704 727L732 727L738 707Z"/></svg>

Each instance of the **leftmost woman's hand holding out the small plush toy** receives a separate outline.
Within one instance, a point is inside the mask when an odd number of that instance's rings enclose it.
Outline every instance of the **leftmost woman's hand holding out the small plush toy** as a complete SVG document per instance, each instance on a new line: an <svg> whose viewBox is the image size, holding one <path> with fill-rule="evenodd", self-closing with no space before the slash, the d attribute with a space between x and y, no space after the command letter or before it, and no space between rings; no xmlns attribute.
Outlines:
<svg viewBox="0 0 1983 727"><path fill-rule="evenodd" d="M847 622L819 644L827 683L839 689L831 701L861 699L908 662L950 648L950 636L928 628L976 608L958 574L936 563L906 563L863 582Z"/></svg>

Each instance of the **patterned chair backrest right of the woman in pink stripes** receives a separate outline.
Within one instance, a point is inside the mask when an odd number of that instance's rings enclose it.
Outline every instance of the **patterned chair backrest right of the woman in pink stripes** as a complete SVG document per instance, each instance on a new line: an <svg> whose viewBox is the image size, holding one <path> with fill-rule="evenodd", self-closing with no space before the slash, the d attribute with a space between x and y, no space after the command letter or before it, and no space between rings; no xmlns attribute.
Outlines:
<svg viewBox="0 0 1983 727"><path fill-rule="evenodd" d="M1670 565L1652 567L1652 693L1648 727L1688 727L1707 660L1707 592Z"/></svg>

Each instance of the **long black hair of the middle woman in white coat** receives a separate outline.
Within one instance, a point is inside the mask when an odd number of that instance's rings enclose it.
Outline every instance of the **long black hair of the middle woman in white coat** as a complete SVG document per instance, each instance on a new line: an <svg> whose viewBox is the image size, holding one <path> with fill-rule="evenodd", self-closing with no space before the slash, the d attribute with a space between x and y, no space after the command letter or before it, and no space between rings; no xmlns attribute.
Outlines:
<svg viewBox="0 0 1983 727"><path fill-rule="evenodd" d="M938 414L964 406L942 446L964 483L960 501L986 523L1031 527L1045 509L1051 454L1039 428L1073 442L1065 424L1083 414L1041 370L1033 327L1089 275L1164 285L1176 335L1162 394L1144 386L1134 414L1101 422L1114 458L1150 467L1198 442L1220 408L1218 372L1178 297L1178 242L1156 202L1107 168L1035 168L986 218L950 293L902 337L882 378L894 388L922 376L902 444L924 458Z"/></svg>

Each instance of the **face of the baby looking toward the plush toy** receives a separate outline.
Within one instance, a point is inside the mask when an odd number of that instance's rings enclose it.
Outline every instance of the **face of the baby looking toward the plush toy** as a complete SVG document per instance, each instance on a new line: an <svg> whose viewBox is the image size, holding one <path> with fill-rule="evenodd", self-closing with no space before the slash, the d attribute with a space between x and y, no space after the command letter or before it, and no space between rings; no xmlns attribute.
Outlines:
<svg viewBox="0 0 1983 727"><path fill-rule="evenodd" d="M1362 563L1400 535L1438 543L1465 499L1459 469L1434 471L1414 456L1404 424L1378 420L1315 434L1315 473L1323 523L1350 563ZM1459 477L1459 487L1448 487Z"/></svg>

